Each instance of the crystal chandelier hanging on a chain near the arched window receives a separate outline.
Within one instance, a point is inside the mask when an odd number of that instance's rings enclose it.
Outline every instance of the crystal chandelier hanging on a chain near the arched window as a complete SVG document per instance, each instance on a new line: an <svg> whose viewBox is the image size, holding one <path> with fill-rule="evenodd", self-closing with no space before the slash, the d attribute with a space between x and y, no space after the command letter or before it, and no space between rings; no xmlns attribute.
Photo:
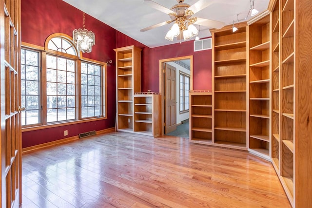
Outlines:
<svg viewBox="0 0 312 208"><path fill-rule="evenodd" d="M73 41L77 45L77 50L82 53L90 53L92 46L96 43L95 34L84 28L84 13L83 13L83 30L79 28L73 31Z"/></svg>

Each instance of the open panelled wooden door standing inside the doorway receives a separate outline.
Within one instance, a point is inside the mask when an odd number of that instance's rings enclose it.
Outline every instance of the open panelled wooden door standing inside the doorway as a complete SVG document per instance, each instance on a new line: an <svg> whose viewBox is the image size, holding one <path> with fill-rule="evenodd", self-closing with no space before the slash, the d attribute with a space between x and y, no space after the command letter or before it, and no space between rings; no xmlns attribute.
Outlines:
<svg viewBox="0 0 312 208"><path fill-rule="evenodd" d="M176 130L176 68L165 64L165 133Z"/></svg>

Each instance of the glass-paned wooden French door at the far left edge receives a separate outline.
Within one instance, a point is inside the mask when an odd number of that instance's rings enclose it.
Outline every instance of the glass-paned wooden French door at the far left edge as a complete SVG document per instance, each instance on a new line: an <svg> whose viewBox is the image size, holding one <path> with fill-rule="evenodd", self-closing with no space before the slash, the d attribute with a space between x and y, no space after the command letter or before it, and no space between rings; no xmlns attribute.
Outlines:
<svg viewBox="0 0 312 208"><path fill-rule="evenodd" d="M20 0L0 0L2 208L21 204Z"/></svg>

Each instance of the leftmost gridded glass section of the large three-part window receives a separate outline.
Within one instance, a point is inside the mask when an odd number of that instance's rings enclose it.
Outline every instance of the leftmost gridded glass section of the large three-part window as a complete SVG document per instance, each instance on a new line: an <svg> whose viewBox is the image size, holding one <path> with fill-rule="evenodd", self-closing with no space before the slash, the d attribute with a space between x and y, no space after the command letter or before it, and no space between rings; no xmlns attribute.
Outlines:
<svg viewBox="0 0 312 208"><path fill-rule="evenodd" d="M21 125L40 123L39 52L21 49Z"/></svg>

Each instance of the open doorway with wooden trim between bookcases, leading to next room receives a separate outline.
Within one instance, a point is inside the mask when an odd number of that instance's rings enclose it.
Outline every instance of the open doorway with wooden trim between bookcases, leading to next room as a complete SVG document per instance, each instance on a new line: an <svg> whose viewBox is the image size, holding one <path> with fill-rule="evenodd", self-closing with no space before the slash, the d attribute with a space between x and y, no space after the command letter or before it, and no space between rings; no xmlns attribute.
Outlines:
<svg viewBox="0 0 312 208"><path fill-rule="evenodd" d="M168 66L170 67L168 69ZM186 67L187 66L187 67ZM167 69L166 69L167 68ZM184 68L184 69L183 69ZM167 70L167 71L166 71ZM173 72L175 71L176 80L172 80ZM166 74L167 72L167 74ZM168 126L170 130L175 130L173 125L177 125L178 131L182 131L183 135L181 137L188 137L188 130L186 131L183 127L188 127L188 118L189 111L180 111L180 93L179 93L179 85L180 76L185 75L188 76L188 85L189 90L193 90L193 56L185 56L185 57L176 57L176 58L168 58L159 60L159 92L161 94L161 121L163 124L163 128L161 130L161 135L167 134L170 135L171 131L168 130ZM168 76L170 76L170 80L168 80ZM166 80L165 80L166 79ZM175 83L175 92L176 97L173 99L173 91L172 91L172 83ZM167 87L167 86L169 87ZM188 93L187 93L188 97ZM170 98L169 100L167 98ZM173 104L174 106L168 107L168 104ZM188 103L186 104L186 106ZM173 109L175 109L175 113L173 113ZM174 114L175 117L171 117ZM169 117L168 117L169 116ZM176 122L175 122L176 121ZM181 125L182 124L182 125ZM184 130L183 130L184 129ZM187 132L187 136L186 136ZM179 133L179 132L176 132ZM175 132L173 135L176 135ZM176 135L179 136L179 135Z"/></svg>

